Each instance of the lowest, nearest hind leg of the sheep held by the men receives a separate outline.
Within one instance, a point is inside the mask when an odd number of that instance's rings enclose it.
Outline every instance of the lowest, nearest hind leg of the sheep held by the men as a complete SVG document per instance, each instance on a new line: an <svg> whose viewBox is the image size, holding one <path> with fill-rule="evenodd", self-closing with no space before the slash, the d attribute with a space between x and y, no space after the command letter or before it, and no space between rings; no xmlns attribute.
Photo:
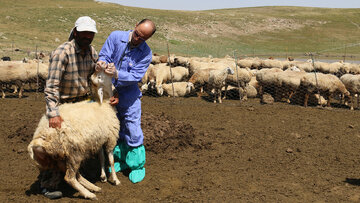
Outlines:
<svg viewBox="0 0 360 203"><path fill-rule="evenodd" d="M96 195L89 190L87 190L84 186L82 186L78 180L76 179L76 171L78 171L79 167L77 168L72 167L71 164L67 163L66 166L66 173L65 173L65 181L71 185L75 190L79 191L80 195L85 197L86 199L96 200Z"/></svg>

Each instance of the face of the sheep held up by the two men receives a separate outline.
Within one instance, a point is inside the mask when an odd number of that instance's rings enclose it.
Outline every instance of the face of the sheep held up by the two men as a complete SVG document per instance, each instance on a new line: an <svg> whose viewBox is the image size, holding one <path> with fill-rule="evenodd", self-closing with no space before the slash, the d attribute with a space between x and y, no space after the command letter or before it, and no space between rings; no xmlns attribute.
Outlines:
<svg viewBox="0 0 360 203"><path fill-rule="evenodd" d="M112 96L112 79L103 70L92 74L91 82L92 93L96 95L100 103L103 99L109 99Z"/></svg>

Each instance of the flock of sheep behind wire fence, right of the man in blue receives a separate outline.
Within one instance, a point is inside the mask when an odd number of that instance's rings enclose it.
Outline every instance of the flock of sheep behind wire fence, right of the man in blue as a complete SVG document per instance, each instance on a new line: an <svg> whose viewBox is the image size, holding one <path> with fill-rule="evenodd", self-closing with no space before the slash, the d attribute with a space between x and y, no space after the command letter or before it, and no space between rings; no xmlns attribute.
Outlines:
<svg viewBox="0 0 360 203"><path fill-rule="evenodd" d="M264 98L269 97L273 101L285 99L291 103L294 95L301 95L304 106L308 105L309 98L315 99L316 105L330 106L332 98L339 98L353 110L354 97L359 103L360 65L342 61L313 62L311 59L245 58L235 62L231 57L155 55L139 85L143 93L159 96L183 97L206 92L215 103L226 99L229 89L239 92L242 100L259 97L265 103Z"/></svg>

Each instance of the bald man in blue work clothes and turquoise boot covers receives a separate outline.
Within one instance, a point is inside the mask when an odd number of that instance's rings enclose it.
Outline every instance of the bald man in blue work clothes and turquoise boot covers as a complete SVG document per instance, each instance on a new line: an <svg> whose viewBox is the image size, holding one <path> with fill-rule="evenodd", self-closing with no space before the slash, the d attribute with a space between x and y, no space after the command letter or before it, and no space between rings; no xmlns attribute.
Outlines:
<svg viewBox="0 0 360 203"><path fill-rule="evenodd" d="M145 148L141 129L141 91L138 82L145 75L152 60L152 52L146 44L156 31L155 24L143 19L134 30L114 31L106 39L97 67L113 76L119 103L116 105L120 120L120 132L114 149L116 172L130 169L133 183L145 177Z"/></svg>

